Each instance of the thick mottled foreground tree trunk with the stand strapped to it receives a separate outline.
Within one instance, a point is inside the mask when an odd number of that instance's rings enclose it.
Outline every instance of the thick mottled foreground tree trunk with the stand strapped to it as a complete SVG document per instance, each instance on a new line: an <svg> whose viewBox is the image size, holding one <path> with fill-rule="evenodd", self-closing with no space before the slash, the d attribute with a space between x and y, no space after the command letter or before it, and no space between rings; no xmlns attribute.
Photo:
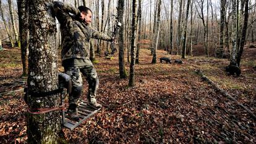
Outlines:
<svg viewBox="0 0 256 144"><path fill-rule="evenodd" d="M27 105L32 110L56 108L60 103L58 94L47 97L36 97L36 94L33 94L58 89L58 54L54 44L56 25L55 18L49 12L50 2L50 0L28 1L30 42ZM60 143L62 130L59 113L59 111L45 114L28 113L28 143Z"/></svg>

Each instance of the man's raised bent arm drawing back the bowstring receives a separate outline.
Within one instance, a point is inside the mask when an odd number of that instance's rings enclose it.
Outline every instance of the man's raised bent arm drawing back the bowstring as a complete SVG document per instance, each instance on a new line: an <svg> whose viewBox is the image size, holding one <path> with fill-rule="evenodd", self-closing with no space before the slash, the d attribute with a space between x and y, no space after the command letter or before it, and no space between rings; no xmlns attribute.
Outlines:
<svg viewBox="0 0 256 144"><path fill-rule="evenodd" d="M67 4L60 1L53 2L53 9L56 18L58 18L60 23L66 23L67 19L70 18L70 14L74 14L80 17L80 10L76 7L72 6L71 4Z"/></svg>

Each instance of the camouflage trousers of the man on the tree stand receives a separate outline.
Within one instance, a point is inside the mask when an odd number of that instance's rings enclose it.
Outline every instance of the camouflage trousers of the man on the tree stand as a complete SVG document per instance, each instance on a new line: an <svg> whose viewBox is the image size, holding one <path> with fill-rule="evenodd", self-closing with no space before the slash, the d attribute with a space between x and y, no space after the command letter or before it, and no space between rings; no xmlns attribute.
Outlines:
<svg viewBox="0 0 256 144"><path fill-rule="evenodd" d="M82 95L83 81L81 73L85 76L89 84L87 95L88 102L96 103L96 90L98 89L99 79L93 65L65 68L65 73L72 79L72 92L69 95L70 110L77 108L79 97Z"/></svg>

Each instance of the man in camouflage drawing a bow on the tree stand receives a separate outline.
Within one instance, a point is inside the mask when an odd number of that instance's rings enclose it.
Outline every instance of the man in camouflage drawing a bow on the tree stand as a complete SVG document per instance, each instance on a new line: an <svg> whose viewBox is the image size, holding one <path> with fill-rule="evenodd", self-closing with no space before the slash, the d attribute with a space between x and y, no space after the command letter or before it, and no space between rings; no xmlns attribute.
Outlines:
<svg viewBox="0 0 256 144"><path fill-rule="evenodd" d="M98 76L90 61L90 39L103 39L113 41L110 36L93 30L89 25L92 22L92 10L85 6L78 9L70 4L54 1L54 14L61 24L62 35L62 66L72 78L72 92L69 95L69 108L71 118L79 119L77 115L77 100L82 95L82 76L87 78L88 105L100 109L102 106L96 102L98 89Z"/></svg>

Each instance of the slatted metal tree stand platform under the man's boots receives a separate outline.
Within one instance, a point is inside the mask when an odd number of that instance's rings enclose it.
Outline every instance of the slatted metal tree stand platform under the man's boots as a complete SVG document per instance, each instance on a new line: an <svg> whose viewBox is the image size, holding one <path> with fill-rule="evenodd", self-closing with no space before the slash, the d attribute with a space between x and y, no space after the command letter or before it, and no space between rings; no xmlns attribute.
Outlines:
<svg viewBox="0 0 256 144"><path fill-rule="evenodd" d="M92 108L92 106L88 106L87 103L82 102L78 106L78 113L79 113L79 121L73 121L72 119L67 116L66 111L62 110L62 124L67 129L73 130L75 127L82 124L82 122L86 121L88 118L93 116L93 114L97 113L98 110Z"/></svg>

